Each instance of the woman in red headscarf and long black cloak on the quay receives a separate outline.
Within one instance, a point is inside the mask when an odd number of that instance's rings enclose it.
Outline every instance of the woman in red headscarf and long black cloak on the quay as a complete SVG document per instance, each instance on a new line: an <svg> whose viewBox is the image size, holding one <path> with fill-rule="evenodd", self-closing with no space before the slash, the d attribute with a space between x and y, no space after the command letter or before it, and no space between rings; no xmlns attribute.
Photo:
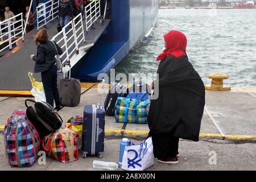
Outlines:
<svg viewBox="0 0 256 182"><path fill-rule="evenodd" d="M162 163L178 163L179 138L198 141L205 105L204 83L189 63L187 38L172 30L164 35L166 49L156 60L159 80L152 89L159 92L151 100L148 113L149 136L154 155Z"/></svg>

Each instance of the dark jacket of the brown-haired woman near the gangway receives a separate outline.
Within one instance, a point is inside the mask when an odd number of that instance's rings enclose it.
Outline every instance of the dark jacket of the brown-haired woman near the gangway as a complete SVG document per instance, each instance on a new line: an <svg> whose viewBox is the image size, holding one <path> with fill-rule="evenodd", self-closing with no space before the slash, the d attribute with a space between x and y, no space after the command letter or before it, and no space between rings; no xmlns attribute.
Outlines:
<svg viewBox="0 0 256 182"><path fill-rule="evenodd" d="M61 55L63 53L62 49L56 43L55 45L59 55ZM47 71L52 64L55 64L55 55L57 55L57 51L51 41L39 44L38 52L33 57L33 60L35 61L34 72L40 73Z"/></svg>

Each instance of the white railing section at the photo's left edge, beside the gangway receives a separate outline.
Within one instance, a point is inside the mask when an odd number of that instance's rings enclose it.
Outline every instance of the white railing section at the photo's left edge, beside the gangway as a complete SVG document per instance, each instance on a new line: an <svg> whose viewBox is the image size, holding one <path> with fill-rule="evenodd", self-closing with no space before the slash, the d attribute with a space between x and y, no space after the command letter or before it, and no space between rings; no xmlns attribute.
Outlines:
<svg viewBox="0 0 256 182"><path fill-rule="evenodd" d="M18 20L13 21L14 18ZM18 42L20 39L24 40L23 26L24 20L22 13L0 22L0 47L7 43L7 46L0 49L0 52L8 47L10 50L13 49L14 43ZM19 36L19 38L16 39L16 36Z"/></svg>

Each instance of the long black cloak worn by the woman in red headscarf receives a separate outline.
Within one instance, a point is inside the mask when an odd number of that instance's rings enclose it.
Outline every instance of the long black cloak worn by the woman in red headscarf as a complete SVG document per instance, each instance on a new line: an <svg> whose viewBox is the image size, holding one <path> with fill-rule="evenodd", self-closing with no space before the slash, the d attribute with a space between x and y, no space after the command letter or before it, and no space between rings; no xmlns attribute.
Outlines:
<svg viewBox="0 0 256 182"><path fill-rule="evenodd" d="M204 113L205 88L187 56L160 61L159 97L152 100L148 126L153 133L198 141ZM156 86L156 85L155 85Z"/></svg>

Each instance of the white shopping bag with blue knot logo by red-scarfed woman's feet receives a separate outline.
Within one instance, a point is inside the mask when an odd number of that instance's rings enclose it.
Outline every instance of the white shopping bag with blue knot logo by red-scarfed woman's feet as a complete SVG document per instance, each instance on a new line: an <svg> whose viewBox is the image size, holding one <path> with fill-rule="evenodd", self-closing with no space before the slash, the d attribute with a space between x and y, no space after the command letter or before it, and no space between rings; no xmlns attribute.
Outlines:
<svg viewBox="0 0 256 182"><path fill-rule="evenodd" d="M144 171L154 165L152 138L139 144L129 142L123 153L122 169L127 171Z"/></svg>

